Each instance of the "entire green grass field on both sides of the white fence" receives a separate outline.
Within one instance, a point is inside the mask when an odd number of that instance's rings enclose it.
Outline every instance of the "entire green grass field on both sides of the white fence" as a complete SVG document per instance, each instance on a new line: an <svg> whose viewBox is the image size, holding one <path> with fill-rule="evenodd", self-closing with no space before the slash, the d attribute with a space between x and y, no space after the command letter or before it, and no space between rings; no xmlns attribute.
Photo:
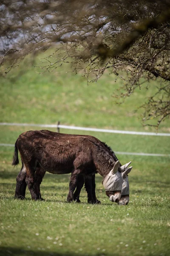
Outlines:
<svg viewBox="0 0 170 256"><path fill-rule="evenodd" d="M23 65L24 66L24 65ZM155 131L142 127L135 110L156 87L156 81L136 90L122 105L112 95L123 81L105 74L87 86L80 74L60 67L39 75L22 67L1 78L0 122L77 125L130 131ZM159 82L159 81L157 81ZM14 144L19 134L38 127L0 126L0 143ZM55 129L51 129L55 131ZM114 151L170 154L170 137L106 134L61 129L62 133L90 134ZM159 132L170 132L170 120ZM11 166L13 147L0 146L0 255L156 255L170 254L170 157L116 154L122 164L132 161L130 203L109 201L96 175L96 195L101 205L68 204L70 175L46 173L41 185L45 201L14 200L21 165Z"/></svg>

